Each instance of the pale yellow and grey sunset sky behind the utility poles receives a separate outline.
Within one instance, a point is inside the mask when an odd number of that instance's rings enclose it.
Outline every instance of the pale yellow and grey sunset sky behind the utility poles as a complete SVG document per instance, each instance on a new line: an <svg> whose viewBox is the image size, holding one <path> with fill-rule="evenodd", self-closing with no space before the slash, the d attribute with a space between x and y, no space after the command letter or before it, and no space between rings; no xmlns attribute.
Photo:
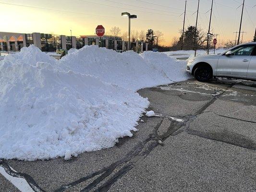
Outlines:
<svg viewBox="0 0 256 192"><path fill-rule="evenodd" d="M196 13L192 14L197 9L197 2L187 0L185 26L195 25ZM233 32L239 30L242 3L243 0L214 0L212 28L219 34L219 40L235 39ZM132 20L132 29L162 31L163 44L170 45L183 26L181 14L185 0L0 0L0 5L2 32L70 35L72 29L73 36L80 36L94 34L98 24L102 24L106 31L112 26L127 31L128 20L121 16L121 12L130 12L138 17ZM205 31L210 5L211 0L200 0L198 24ZM256 0L245 0L242 31L247 33L244 41L252 40L255 33L255 5Z"/></svg>

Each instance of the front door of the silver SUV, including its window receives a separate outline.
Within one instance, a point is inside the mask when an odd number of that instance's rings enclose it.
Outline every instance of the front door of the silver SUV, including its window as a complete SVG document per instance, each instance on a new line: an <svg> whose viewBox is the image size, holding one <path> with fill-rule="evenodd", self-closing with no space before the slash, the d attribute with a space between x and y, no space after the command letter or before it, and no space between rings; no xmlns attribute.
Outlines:
<svg viewBox="0 0 256 192"><path fill-rule="evenodd" d="M230 56L222 54L218 60L217 76L246 78L254 48L254 45L247 44L233 48Z"/></svg>

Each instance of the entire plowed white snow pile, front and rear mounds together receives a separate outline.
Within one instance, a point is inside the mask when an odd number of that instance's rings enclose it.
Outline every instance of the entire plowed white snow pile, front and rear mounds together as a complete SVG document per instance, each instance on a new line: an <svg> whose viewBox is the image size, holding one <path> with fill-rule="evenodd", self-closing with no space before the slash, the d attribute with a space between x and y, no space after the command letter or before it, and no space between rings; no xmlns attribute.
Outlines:
<svg viewBox="0 0 256 192"><path fill-rule="evenodd" d="M184 69L184 62L160 53L97 46L73 50L60 61L33 45L5 56L0 158L69 159L111 147L137 131L134 126L149 105L135 90L185 80Z"/></svg>

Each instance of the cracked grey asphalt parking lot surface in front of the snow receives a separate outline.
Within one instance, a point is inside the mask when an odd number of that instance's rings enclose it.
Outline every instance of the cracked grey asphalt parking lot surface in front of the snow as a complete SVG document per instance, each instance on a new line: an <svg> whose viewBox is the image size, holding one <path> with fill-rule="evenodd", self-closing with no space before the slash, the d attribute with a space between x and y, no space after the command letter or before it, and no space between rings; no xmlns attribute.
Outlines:
<svg viewBox="0 0 256 192"><path fill-rule="evenodd" d="M191 79L138 93L156 116L114 147L0 165L37 192L256 191L256 82ZM0 174L0 191L19 190Z"/></svg>

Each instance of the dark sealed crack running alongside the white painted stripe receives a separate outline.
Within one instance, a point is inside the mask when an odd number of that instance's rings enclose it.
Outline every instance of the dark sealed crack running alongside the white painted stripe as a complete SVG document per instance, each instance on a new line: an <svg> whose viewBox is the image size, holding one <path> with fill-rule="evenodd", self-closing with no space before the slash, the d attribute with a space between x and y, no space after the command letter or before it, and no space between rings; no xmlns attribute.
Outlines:
<svg viewBox="0 0 256 192"><path fill-rule="evenodd" d="M11 175L12 177L25 179L27 181L27 183L29 184L29 186L35 192L46 192L37 185L36 181L30 175L13 171L12 168L7 163L5 163L5 161L3 159L0 159L0 167L3 167L5 172L8 173L9 175Z"/></svg>

